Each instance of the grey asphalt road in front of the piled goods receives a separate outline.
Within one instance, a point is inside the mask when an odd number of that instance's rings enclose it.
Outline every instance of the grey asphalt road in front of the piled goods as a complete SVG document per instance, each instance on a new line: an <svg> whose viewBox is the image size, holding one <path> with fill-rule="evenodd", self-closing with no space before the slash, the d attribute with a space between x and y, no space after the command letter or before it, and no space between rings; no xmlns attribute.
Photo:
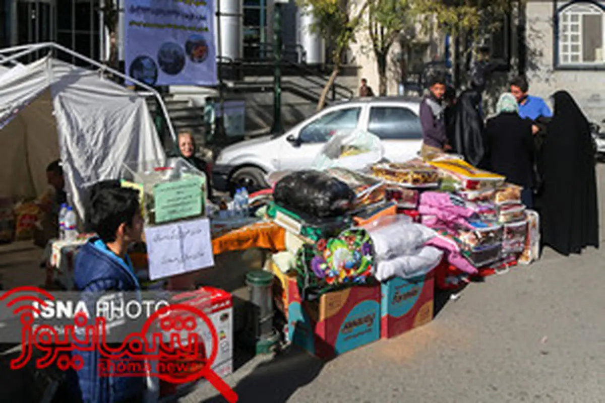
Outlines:
<svg viewBox="0 0 605 403"><path fill-rule="evenodd" d="M605 167L598 176L605 195ZM240 402L605 402L604 258L545 250L408 334L328 363L298 350L256 358L226 381ZM181 401L224 399L206 384Z"/></svg>

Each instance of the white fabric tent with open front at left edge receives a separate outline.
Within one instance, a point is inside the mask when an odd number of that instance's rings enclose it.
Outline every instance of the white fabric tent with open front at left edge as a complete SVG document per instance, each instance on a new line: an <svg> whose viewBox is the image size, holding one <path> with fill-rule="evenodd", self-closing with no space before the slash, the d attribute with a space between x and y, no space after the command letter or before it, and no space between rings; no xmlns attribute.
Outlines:
<svg viewBox="0 0 605 403"><path fill-rule="evenodd" d="M83 190L120 177L124 162L165 158L145 98L97 71L50 56L0 68L0 196L35 198L60 158L83 217Z"/></svg>

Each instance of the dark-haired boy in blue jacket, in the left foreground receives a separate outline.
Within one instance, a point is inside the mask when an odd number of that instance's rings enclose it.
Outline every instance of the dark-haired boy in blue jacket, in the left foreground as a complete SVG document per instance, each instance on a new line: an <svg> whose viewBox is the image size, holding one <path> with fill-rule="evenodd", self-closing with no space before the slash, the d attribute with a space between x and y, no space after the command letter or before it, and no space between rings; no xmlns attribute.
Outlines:
<svg viewBox="0 0 605 403"><path fill-rule="evenodd" d="M74 265L74 283L83 298L90 302L94 299L91 295L103 292L140 291L126 254L131 243L140 241L143 231L138 192L125 188L99 190L91 198L87 221L97 236L82 247ZM93 321L89 318L89 323ZM83 402L142 401L145 378L100 373L103 357L97 349L75 353L82 356L84 363L77 372L78 397Z"/></svg>

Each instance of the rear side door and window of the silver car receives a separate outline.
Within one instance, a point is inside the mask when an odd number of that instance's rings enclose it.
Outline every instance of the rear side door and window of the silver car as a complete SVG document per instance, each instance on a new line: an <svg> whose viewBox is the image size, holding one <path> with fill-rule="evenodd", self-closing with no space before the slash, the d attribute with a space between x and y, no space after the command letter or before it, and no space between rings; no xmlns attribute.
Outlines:
<svg viewBox="0 0 605 403"><path fill-rule="evenodd" d="M411 160L422 146L420 117L404 105L372 105L368 132L381 138L389 161Z"/></svg>

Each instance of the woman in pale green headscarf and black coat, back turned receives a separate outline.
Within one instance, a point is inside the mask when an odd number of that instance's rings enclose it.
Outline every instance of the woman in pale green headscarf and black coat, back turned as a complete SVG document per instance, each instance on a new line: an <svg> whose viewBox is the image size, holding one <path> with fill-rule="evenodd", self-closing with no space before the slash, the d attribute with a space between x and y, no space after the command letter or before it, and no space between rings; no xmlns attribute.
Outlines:
<svg viewBox="0 0 605 403"><path fill-rule="evenodd" d="M489 169L522 186L523 204L532 208L535 155L532 123L519 116L512 94L500 95L496 110L497 115L488 119L485 127Z"/></svg>

